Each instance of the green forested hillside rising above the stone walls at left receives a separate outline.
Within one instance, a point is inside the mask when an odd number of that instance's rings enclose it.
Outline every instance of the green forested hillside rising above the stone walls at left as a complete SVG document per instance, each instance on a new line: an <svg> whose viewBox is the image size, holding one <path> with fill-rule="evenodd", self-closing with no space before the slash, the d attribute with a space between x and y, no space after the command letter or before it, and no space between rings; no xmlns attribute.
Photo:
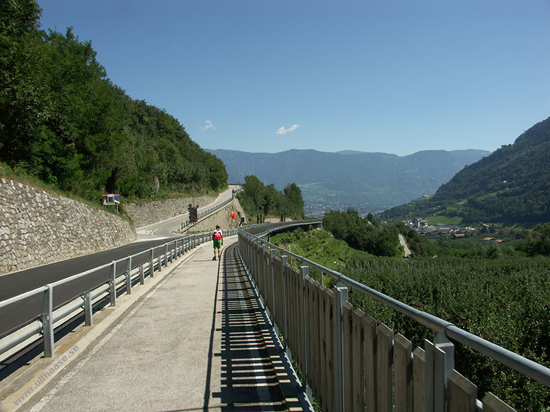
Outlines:
<svg viewBox="0 0 550 412"><path fill-rule="evenodd" d="M225 187L177 119L113 84L72 28L39 30L40 15L34 0L0 2L0 161L93 201Z"/></svg>

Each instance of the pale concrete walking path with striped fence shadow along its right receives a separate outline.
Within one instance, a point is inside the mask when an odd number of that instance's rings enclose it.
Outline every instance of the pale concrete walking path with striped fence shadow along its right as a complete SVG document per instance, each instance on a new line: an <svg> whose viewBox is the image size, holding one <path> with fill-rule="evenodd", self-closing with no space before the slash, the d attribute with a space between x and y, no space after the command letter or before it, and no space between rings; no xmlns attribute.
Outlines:
<svg viewBox="0 0 550 412"><path fill-rule="evenodd" d="M303 410L235 242L192 253L20 410Z"/></svg>

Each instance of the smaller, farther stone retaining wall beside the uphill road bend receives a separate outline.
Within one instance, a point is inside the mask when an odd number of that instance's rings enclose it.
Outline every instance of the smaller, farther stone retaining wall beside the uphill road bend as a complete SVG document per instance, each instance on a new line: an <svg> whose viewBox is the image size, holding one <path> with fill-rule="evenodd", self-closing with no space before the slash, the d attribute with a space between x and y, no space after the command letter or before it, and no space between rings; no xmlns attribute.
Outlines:
<svg viewBox="0 0 550 412"><path fill-rule="evenodd" d="M216 200L213 196L195 197L195 205L203 207ZM135 227L151 225L169 218L187 213L187 207L193 198L166 199L149 203L128 203L124 205L126 214L133 220Z"/></svg>

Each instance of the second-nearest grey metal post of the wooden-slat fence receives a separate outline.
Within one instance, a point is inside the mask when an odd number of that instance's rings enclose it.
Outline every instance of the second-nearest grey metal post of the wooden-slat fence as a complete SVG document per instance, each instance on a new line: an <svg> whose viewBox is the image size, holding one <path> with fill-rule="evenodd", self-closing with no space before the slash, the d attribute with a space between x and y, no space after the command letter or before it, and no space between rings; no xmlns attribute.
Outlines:
<svg viewBox="0 0 550 412"><path fill-rule="evenodd" d="M344 325L342 310L348 300L348 288L334 288L334 400L336 411L344 412Z"/></svg>

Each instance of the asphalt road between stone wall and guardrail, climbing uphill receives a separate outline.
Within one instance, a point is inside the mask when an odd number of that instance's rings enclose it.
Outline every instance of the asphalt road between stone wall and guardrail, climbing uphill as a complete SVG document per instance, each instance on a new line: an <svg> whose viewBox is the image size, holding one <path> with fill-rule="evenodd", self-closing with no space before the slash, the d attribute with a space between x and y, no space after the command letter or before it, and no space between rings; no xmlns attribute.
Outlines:
<svg viewBox="0 0 550 412"><path fill-rule="evenodd" d="M230 198L234 188L235 186L232 186L229 190L223 192L212 205L217 205ZM201 209L208 209L210 206ZM122 247L1 275L0 301L137 253L140 253L140 255L133 258L132 266L139 266L149 259L151 248L153 248L153 257L156 258L164 253L164 247L160 247L161 245L170 242L170 240L184 237L174 233L174 231L179 229L182 218L185 220L186 216L184 214L138 228L136 230L136 240ZM125 270L125 264L118 264L116 275L124 273ZM54 289L54 308L72 301L72 299L81 295L84 290L94 289L107 282L110 275L109 271L109 268L104 268L74 282L57 286ZM42 299L42 295L35 295L19 301L17 304L0 308L0 338L36 319L42 312Z"/></svg>

